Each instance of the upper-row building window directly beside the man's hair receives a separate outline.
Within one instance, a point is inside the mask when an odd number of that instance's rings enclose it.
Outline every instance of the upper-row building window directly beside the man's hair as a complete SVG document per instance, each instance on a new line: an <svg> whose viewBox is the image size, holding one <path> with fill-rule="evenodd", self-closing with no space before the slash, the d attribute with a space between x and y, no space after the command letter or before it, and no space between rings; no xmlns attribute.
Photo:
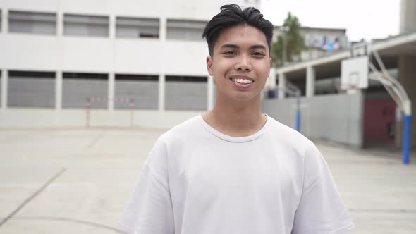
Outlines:
<svg viewBox="0 0 416 234"><path fill-rule="evenodd" d="M167 39L202 40L206 21L168 20Z"/></svg>

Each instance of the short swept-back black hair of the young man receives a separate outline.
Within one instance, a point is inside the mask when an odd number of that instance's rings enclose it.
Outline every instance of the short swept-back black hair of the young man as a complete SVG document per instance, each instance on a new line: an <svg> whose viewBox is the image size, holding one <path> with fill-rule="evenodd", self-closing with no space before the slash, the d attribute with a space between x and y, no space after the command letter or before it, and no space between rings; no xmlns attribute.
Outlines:
<svg viewBox="0 0 416 234"><path fill-rule="evenodd" d="M214 16L205 26L202 37L207 39L209 55L214 54L214 44L222 30L237 25L250 25L264 33L269 46L273 37L273 24L263 18L262 13L254 7L247 7L244 10L237 4L221 6L221 12Z"/></svg>

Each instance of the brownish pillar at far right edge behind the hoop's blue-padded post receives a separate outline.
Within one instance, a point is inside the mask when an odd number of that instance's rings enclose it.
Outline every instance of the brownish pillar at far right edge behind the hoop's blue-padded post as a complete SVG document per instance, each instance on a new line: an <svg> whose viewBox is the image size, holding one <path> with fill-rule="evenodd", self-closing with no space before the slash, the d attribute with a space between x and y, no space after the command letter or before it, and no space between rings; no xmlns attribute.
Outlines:
<svg viewBox="0 0 416 234"><path fill-rule="evenodd" d="M416 56L400 56L398 59L398 81L403 85L412 101L412 130L411 145L416 147ZM396 128L396 144L403 144L403 118L398 121Z"/></svg>

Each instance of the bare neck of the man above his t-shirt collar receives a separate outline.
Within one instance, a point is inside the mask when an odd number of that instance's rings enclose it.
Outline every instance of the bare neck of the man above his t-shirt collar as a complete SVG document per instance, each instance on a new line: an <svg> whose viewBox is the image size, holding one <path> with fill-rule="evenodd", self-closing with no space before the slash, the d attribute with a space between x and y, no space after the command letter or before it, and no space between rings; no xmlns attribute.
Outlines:
<svg viewBox="0 0 416 234"><path fill-rule="evenodd" d="M257 133L267 119L260 113L260 96L243 102L223 100L217 95L214 109L203 117L216 130L236 137Z"/></svg>

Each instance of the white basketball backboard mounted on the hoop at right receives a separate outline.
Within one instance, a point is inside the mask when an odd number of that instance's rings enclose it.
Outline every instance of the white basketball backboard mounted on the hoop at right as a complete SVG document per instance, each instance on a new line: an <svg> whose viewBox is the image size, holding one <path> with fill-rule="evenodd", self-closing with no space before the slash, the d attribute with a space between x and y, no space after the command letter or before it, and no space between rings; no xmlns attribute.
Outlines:
<svg viewBox="0 0 416 234"><path fill-rule="evenodd" d="M341 90L368 87L368 57L346 58L341 61Z"/></svg>

